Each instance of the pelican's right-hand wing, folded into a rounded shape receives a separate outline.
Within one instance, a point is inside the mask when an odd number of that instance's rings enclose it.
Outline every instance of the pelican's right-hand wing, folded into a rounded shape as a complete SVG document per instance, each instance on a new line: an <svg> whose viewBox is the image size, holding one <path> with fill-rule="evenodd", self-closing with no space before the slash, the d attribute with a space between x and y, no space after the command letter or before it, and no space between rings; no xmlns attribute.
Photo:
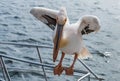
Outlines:
<svg viewBox="0 0 120 81"><path fill-rule="evenodd" d="M86 15L83 16L80 23L79 31L83 34L97 32L100 29L100 22L96 16Z"/></svg>

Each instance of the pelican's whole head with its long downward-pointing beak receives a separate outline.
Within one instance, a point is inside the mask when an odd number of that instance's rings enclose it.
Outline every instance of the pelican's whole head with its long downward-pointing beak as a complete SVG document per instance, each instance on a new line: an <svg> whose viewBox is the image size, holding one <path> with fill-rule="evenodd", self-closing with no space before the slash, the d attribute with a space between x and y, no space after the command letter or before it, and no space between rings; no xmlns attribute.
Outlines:
<svg viewBox="0 0 120 81"><path fill-rule="evenodd" d="M63 33L63 28L64 25L66 24L67 21L67 13L66 13L66 9L64 7L62 7L58 14L57 14L57 18L56 18L56 35L54 38L54 51L53 51L53 56L56 56L58 50L59 50L59 44L60 44L60 40L62 37L62 33ZM56 57L53 57L53 61L56 60Z"/></svg>

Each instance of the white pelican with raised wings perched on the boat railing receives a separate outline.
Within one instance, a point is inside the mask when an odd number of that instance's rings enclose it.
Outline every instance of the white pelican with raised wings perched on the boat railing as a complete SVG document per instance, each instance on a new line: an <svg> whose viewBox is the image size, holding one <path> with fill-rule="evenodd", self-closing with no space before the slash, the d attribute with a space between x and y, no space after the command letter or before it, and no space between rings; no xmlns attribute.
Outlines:
<svg viewBox="0 0 120 81"><path fill-rule="evenodd" d="M63 70L65 70L66 75L73 75L76 59L78 57L84 59L91 56L83 42L82 35L97 32L100 29L99 19L93 15L85 15L76 23L70 24L66 8L64 7L60 8L60 10L34 7L30 13L54 31L54 62L56 61L59 50L62 52L61 59L54 68L54 74L61 75ZM62 66L65 54L74 55L73 63L67 68Z"/></svg>

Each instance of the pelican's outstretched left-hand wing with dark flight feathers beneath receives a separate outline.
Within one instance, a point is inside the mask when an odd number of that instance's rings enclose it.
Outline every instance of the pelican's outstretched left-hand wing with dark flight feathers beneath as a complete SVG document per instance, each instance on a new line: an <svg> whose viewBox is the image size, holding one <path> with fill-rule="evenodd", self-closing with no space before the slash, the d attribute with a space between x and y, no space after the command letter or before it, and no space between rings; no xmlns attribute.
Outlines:
<svg viewBox="0 0 120 81"><path fill-rule="evenodd" d="M58 11L43 7L34 7L31 9L30 13L41 22L48 25L52 30L55 29Z"/></svg>

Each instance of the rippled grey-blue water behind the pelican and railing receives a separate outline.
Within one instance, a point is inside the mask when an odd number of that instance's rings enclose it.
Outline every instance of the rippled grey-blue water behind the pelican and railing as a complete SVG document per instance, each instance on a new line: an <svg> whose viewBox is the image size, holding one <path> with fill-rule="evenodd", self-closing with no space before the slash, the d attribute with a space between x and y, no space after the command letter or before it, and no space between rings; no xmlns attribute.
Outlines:
<svg viewBox="0 0 120 81"><path fill-rule="evenodd" d="M43 23L35 19L29 12L32 7L47 7L59 9L67 8L71 23L76 22L86 14L96 15L101 20L101 30L97 34L84 36L85 44L93 55L92 59L84 60L95 73L105 78L105 81L119 81L120 79L120 1L119 0L1 0L0 1L0 41L28 44L48 45L52 44L52 31ZM52 50L41 49L43 62L53 64ZM34 48L3 46L0 45L0 53L16 56L23 59L38 61ZM72 61L67 56L66 62ZM8 67L34 68L25 63L13 62L6 59ZM76 63L76 68L80 67ZM21 81L21 73L11 72L13 81ZM39 74L24 74L27 81L43 80ZM56 77L47 74L49 80L64 81L76 80L76 77ZM1 76L1 75L0 75ZM62 77L62 78L61 78Z"/></svg>

